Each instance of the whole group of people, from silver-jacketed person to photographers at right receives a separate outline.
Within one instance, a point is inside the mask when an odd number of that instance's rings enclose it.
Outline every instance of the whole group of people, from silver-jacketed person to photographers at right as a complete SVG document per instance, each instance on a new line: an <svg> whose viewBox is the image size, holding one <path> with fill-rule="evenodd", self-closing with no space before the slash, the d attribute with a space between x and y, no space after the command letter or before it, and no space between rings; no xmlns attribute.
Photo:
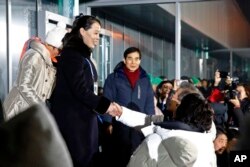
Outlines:
<svg viewBox="0 0 250 167"><path fill-rule="evenodd" d="M46 104L74 167L229 165L250 112L246 83L216 71L212 82L162 77L153 85L131 46L97 92L91 54L101 22L80 14L71 31L61 25L44 42L29 40L2 124Z"/></svg>

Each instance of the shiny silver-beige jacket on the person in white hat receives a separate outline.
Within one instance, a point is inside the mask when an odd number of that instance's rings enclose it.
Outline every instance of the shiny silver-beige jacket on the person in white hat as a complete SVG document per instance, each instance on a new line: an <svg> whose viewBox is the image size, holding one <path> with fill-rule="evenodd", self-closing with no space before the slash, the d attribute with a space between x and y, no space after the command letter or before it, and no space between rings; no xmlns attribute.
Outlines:
<svg viewBox="0 0 250 167"><path fill-rule="evenodd" d="M51 96L56 69L50 53L42 43L34 40L30 47L19 63L17 80L4 101L5 120Z"/></svg>

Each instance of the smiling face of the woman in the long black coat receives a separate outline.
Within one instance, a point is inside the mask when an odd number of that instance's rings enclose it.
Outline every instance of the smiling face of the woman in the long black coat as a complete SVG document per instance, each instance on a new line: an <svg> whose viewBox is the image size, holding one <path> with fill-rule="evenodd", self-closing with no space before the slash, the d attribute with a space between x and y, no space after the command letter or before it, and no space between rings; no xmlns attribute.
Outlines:
<svg viewBox="0 0 250 167"><path fill-rule="evenodd" d="M94 22L91 28L88 30L80 28L80 33L82 35L83 42L90 49L94 49L98 45L100 39L100 32L101 32L101 25L97 22Z"/></svg>

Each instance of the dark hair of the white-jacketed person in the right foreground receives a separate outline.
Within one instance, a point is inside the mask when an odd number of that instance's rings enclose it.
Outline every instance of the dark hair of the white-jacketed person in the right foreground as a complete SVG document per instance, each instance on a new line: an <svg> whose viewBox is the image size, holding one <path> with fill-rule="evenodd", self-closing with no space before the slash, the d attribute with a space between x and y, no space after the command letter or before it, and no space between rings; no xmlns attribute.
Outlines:
<svg viewBox="0 0 250 167"><path fill-rule="evenodd" d="M208 131L212 126L213 110L200 94L191 93L181 100L175 119L201 131Z"/></svg>

